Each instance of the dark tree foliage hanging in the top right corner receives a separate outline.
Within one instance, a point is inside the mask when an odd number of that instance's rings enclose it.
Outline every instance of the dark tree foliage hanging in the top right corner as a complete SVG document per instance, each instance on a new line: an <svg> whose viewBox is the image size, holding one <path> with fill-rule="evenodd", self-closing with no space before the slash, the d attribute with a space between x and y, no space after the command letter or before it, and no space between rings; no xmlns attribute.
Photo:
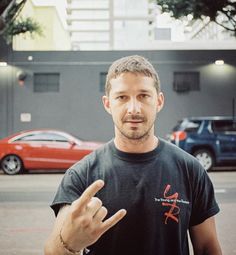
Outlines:
<svg viewBox="0 0 236 255"><path fill-rule="evenodd" d="M156 0L162 12L169 12L179 19L189 14L193 19L210 18L236 37L235 0Z"/></svg>

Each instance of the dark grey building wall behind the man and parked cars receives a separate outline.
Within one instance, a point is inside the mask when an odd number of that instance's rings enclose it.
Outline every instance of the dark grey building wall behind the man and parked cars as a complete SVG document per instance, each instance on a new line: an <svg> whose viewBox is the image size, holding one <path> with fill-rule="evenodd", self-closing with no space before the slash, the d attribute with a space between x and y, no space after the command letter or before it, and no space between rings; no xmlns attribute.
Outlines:
<svg viewBox="0 0 236 255"><path fill-rule="evenodd" d="M106 72L115 59L131 54L147 57L159 72L165 106L157 118L158 135L165 137L186 116L230 115L232 98L236 97L235 53L235 50L13 52L11 72L6 78L11 89L1 87L1 94L9 98L8 116L12 123L5 127L1 120L0 137L24 129L57 128L83 139L109 140L113 137L113 124L102 106L100 73ZM29 55L33 61L27 61ZM224 66L214 65L215 59L222 58ZM27 72L24 86L17 82L19 71ZM174 91L176 71L200 72L200 91ZM59 92L33 91L33 75L41 72L60 73ZM5 109L5 104L5 99L0 101L1 109ZM30 113L31 122L21 122L21 113Z"/></svg>

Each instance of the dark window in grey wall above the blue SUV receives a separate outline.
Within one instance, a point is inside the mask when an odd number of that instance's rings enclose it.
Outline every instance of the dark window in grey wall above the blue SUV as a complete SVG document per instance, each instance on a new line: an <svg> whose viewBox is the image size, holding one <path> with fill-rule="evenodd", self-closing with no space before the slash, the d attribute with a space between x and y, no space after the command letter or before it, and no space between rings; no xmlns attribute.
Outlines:
<svg viewBox="0 0 236 255"><path fill-rule="evenodd" d="M199 72L174 72L173 89L179 93L200 90Z"/></svg>

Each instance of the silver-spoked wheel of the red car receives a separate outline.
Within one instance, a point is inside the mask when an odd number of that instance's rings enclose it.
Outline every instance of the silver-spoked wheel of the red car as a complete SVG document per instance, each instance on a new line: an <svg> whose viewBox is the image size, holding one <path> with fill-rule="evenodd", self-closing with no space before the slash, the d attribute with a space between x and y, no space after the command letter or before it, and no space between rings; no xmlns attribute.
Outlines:
<svg viewBox="0 0 236 255"><path fill-rule="evenodd" d="M24 170L22 160L16 155L7 155L1 161L1 168L9 175L22 173Z"/></svg>

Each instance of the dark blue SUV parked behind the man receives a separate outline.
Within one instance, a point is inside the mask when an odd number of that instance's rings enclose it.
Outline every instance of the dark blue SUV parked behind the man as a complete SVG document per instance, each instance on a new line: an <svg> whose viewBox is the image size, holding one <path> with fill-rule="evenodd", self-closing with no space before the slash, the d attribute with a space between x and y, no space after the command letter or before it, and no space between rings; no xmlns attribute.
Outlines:
<svg viewBox="0 0 236 255"><path fill-rule="evenodd" d="M232 117L184 118L169 139L194 155L206 170L236 164L236 119Z"/></svg>

